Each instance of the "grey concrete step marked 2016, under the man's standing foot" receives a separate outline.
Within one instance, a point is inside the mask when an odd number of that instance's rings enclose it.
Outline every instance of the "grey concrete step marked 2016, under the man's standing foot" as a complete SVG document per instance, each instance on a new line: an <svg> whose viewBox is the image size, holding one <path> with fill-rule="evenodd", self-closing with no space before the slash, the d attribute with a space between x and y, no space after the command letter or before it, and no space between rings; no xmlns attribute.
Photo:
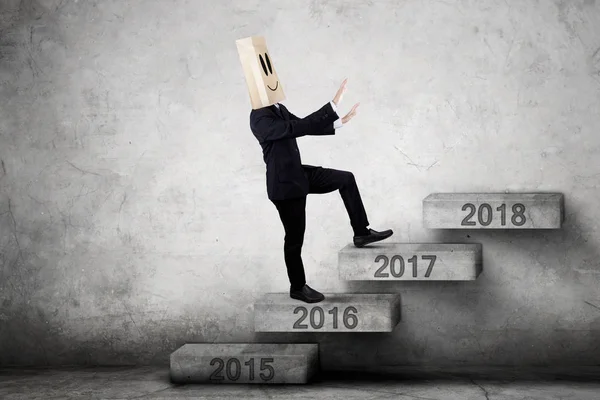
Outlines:
<svg viewBox="0 0 600 400"><path fill-rule="evenodd" d="M324 293L307 304L267 293L254 304L256 332L391 332L400 321L400 295Z"/></svg>

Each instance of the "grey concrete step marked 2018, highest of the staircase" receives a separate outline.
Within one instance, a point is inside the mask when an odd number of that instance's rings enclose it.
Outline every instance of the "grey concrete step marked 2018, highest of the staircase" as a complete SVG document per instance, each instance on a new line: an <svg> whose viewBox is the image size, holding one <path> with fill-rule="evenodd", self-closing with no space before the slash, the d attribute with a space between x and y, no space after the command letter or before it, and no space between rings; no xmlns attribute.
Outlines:
<svg viewBox="0 0 600 400"><path fill-rule="evenodd" d="M423 224L432 229L559 229L560 193L434 193L423 200Z"/></svg>

